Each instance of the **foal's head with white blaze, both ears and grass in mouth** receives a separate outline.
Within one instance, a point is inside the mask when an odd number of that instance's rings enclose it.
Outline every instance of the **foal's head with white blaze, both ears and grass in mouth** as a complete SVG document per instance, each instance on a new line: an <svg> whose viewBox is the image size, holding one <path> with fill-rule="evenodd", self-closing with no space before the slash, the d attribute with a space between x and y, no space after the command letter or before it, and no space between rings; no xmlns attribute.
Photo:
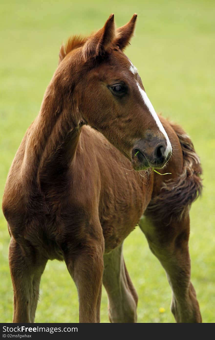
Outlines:
<svg viewBox="0 0 215 340"><path fill-rule="evenodd" d="M60 49L59 68L73 89L78 122L100 131L135 170L160 169L171 157L171 143L137 68L124 54L136 19L134 14L125 26L115 29L111 14L96 33L70 38Z"/></svg>

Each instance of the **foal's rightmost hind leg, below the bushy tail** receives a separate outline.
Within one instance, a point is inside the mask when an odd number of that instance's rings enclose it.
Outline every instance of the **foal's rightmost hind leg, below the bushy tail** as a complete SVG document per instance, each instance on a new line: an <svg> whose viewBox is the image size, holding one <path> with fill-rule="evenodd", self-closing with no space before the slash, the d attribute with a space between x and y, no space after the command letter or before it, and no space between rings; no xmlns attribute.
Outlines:
<svg viewBox="0 0 215 340"><path fill-rule="evenodd" d="M155 222L154 217L147 216L140 220L139 225L150 250L166 271L173 291L171 311L176 322L201 322L196 292L190 281L189 212L185 212L182 218L172 216L170 223Z"/></svg>

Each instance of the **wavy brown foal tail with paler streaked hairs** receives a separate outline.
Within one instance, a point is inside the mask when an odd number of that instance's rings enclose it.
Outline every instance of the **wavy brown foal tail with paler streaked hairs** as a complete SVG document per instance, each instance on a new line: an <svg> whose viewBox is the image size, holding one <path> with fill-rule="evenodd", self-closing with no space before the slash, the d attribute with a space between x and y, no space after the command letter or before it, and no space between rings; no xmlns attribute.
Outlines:
<svg viewBox="0 0 215 340"><path fill-rule="evenodd" d="M164 181L158 195L150 201L145 215L153 220L182 218L187 208L199 197L202 191L202 168L190 137L177 124L169 122L178 136L182 154L183 168L181 174L173 180ZM166 208L164 208L166 207Z"/></svg>

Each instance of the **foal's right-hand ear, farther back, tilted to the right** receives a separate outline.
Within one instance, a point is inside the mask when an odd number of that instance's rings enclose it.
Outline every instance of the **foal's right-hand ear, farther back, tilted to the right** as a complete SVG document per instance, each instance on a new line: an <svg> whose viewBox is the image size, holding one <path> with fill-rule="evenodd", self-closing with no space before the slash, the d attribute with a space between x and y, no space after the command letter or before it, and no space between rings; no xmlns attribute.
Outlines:
<svg viewBox="0 0 215 340"><path fill-rule="evenodd" d="M135 30L137 14L134 14L131 20L126 25L117 29L117 38L114 40L115 45L118 45L121 50L129 44L129 41Z"/></svg>

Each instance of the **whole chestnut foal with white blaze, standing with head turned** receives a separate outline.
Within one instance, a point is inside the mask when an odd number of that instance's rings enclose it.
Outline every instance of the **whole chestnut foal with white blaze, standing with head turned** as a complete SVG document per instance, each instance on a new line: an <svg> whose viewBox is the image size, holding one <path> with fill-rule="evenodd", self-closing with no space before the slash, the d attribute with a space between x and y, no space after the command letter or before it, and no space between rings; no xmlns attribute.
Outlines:
<svg viewBox="0 0 215 340"><path fill-rule="evenodd" d="M48 259L65 260L80 322L100 321L102 282L110 321L135 322L138 296L122 244L138 222L166 270L176 321L201 322L188 251L200 163L183 130L158 118L123 53L136 18L115 30L111 15L95 34L61 47L39 115L16 153L3 197L13 322L34 322ZM172 157L169 140L177 146ZM145 171L163 173L167 161L172 174L165 178ZM142 172L128 171L131 164Z"/></svg>

